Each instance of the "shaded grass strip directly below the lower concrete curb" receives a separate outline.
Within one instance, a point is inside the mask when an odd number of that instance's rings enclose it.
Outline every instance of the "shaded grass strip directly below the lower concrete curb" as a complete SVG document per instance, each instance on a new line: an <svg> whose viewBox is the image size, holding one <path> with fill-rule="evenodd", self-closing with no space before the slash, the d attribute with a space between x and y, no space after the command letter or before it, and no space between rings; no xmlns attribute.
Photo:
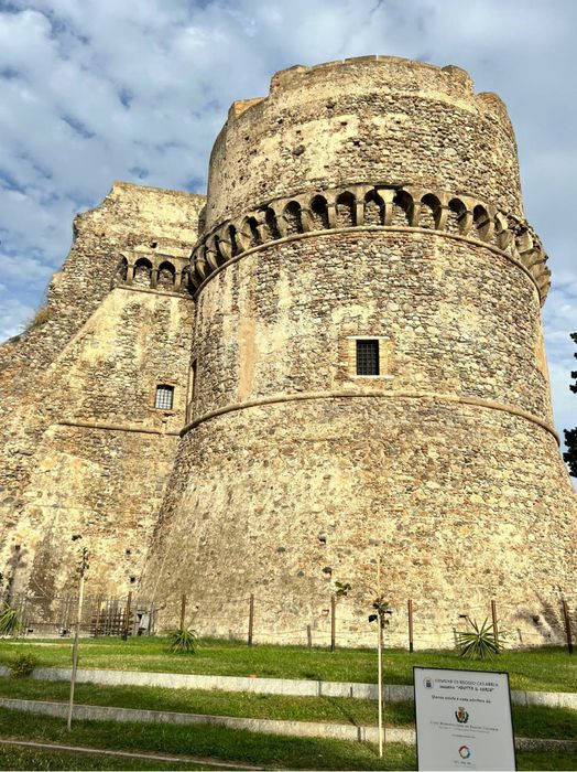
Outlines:
<svg viewBox="0 0 577 772"><path fill-rule="evenodd" d="M18 717L18 718L17 718ZM415 750L401 743L388 743L385 757L379 759L375 746L342 740L314 738L286 738L274 735L255 735L246 731L211 727L182 727L170 725L122 723L112 721L76 721L73 731L66 730L63 719L48 716L0 709L0 737L35 740L37 742L77 743L97 748L157 752L185 753L211 757L242 763L262 765L268 769L308 770L414 770ZM0 761L1 769L89 769L75 765L76 754L68 760L59 752L54 760L53 751L34 752L35 763L26 761L24 753L15 754L0 747L9 757ZM43 759L46 757L46 760ZM30 761L30 759L28 759ZM520 770L574 770L575 757L566 752L521 752L518 754ZM83 762L86 763L86 762ZM129 760L120 766L102 764L102 757L94 757L91 769L134 769ZM178 764L179 768L179 764ZM139 762L137 769L155 769ZM156 769L164 769L159 764ZM174 769L174 765L172 766ZM194 769L189 766L188 769Z"/></svg>

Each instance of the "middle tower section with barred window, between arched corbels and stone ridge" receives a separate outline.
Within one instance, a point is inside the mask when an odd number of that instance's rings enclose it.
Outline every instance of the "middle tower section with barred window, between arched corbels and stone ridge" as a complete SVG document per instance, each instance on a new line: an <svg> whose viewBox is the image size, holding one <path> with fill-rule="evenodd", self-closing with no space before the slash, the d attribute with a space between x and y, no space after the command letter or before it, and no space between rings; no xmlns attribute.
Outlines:
<svg viewBox="0 0 577 772"><path fill-rule="evenodd" d="M378 377L356 339L379 341ZM338 390L480 399L552 422L540 299L496 250L431 233L358 228L272 243L198 294L193 417Z"/></svg>

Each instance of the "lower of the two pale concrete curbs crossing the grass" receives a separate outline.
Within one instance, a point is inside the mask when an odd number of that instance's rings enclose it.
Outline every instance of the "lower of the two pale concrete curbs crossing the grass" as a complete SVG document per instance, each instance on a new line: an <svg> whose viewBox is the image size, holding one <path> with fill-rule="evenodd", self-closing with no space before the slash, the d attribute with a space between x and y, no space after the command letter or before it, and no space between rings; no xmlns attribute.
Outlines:
<svg viewBox="0 0 577 772"><path fill-rule="evenodd" d="M66 703L47 703L35 699L9 699L0 697L0 707L22 710L30 714L65 718ZM377 727L362 727L349 723L326 723L316 721L282 721L266 718L240 718L236 716L209 716L202 714L181 714L168 710L141 710L139 708L111 708L99 705L75 705L73 716L77 720L88 721L130 721L135 723L173 723L200 725L241 729L261 735L283 735L288 737L319 737L331 740L356 740L359 742L378 742ZM387 727L387 742L415 744L414 729ZM519 750L567 750L577 752L577 742L571 740L542 740L538 738L516 738Z"/></svg>

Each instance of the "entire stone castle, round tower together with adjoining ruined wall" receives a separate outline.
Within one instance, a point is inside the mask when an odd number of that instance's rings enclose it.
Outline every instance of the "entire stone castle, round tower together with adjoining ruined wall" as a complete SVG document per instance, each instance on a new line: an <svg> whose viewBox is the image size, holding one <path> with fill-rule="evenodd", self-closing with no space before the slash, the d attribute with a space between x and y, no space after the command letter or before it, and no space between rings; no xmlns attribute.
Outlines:
<svg viewBox="0 0 577 772"><path fill-rule="evenodd" d="M505 107L462 69L277 73L230 108L207 196L116 183L78 215L46 305L1 347L0 570L70 593L81 534L92 594L160 599L166 625L185 592L222 635L252 593L283 642L323 631L349 582L358 643L379 559L429 643L491 598L558 640L577 497L545 264Z"/></svg>

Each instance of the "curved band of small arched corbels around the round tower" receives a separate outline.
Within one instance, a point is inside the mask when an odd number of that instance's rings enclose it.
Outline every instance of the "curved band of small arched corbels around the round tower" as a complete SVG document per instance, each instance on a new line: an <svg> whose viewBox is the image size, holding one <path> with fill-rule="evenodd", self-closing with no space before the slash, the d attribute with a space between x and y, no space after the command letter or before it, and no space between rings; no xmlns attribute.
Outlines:
<svg viewBox="0 0 577 772"><path fill-rule="evenodd" d="M248 249L298 234L363 226L428 228L488 244L526 269L545 302L551 286L547 255L525 221L470 195L369 183L276 199L215 226L193 250L193 291Z"/></svg>

